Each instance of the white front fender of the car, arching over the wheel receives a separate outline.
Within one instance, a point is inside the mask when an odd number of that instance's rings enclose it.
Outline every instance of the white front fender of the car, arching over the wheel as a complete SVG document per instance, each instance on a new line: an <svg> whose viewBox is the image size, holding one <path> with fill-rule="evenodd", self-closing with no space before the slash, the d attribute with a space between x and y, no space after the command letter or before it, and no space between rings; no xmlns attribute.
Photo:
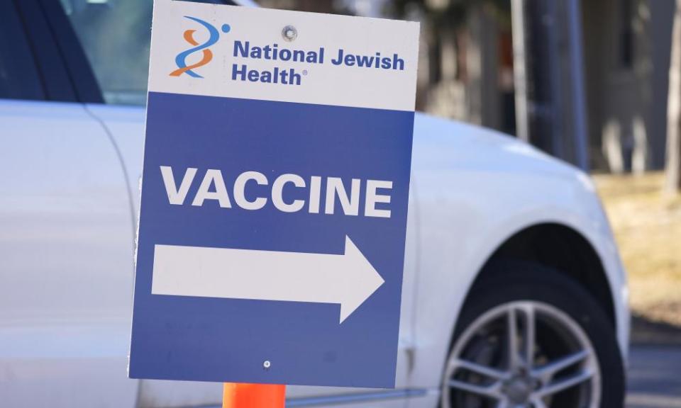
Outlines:
<svg viewBox="0 0 681 408"><path fill-rule="evenodd" d="M607 273L623 357L626 276L589 177L511 137L419 115L412 179L419 206L417 365L413 387L438 386L458 312L489 256L517 232L546 223L587 239ZM429 301L433 293L437 301Z"/></svg>

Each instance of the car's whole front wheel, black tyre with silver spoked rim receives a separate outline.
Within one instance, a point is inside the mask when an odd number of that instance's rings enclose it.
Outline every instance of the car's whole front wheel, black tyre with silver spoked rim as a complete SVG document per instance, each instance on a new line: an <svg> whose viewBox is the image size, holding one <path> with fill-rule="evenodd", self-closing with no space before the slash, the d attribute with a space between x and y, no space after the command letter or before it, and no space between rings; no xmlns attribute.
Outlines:
<svg viewBox="0 0 681 408"><path fill-rule="evenodd" d="M460 314L441 407L622 407L614 324L594 298L535 263L490 268Z"/></svg>

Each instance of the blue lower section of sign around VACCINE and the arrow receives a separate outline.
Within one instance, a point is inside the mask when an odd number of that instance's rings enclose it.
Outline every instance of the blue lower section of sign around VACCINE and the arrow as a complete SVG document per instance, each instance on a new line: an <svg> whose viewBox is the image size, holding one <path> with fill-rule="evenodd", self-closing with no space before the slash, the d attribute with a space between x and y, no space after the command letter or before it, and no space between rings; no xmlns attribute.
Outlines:
<svg viewBox="0 0 681 408"><path fill-rule="evenodd" d="M130 376L394 387L413 123L413 112L150 93ZM198 169L184 204L169 203L160 166L178 187ZM231 208L192 205L207 169L221 171ZM233 198L244 171L269 181L248 184L246 198L268 198L259 210ZM319 213L282 212L269 199L281 174L340 177L348 192L352 179L392 181L376 206L391 215L366 216L364 188L358 215L338 201L325 214L325 183ZM285 201L309 201L289 187ZM346 235L385 282L342 324L338 304L152 294L155 244L343 254Z"/></svg>

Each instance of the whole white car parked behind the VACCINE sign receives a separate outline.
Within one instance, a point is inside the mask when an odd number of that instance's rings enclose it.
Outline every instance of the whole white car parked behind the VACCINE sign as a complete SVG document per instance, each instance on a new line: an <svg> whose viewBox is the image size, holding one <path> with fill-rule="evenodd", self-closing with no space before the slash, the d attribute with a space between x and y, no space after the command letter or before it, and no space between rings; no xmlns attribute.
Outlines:
<svg viewBox="0 0 681 408"><path fill-rule="evenodd" d="M150 16L0 0L1 407L221 403L221 384L127 378ZM414 127L397 387L288 387L287 405L621 407L626 276L589 176Z"/></svg>

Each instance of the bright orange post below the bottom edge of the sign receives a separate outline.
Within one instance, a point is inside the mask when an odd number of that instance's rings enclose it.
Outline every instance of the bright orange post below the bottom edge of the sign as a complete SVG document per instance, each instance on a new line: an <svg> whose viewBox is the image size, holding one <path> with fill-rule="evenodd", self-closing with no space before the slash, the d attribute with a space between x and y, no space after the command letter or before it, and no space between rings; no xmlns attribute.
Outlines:
<svg viewBox="0 0 681 408"><path fill-rule="evenodd" d="M225 382L222 408L284 408L286 385Z"/></svg>

